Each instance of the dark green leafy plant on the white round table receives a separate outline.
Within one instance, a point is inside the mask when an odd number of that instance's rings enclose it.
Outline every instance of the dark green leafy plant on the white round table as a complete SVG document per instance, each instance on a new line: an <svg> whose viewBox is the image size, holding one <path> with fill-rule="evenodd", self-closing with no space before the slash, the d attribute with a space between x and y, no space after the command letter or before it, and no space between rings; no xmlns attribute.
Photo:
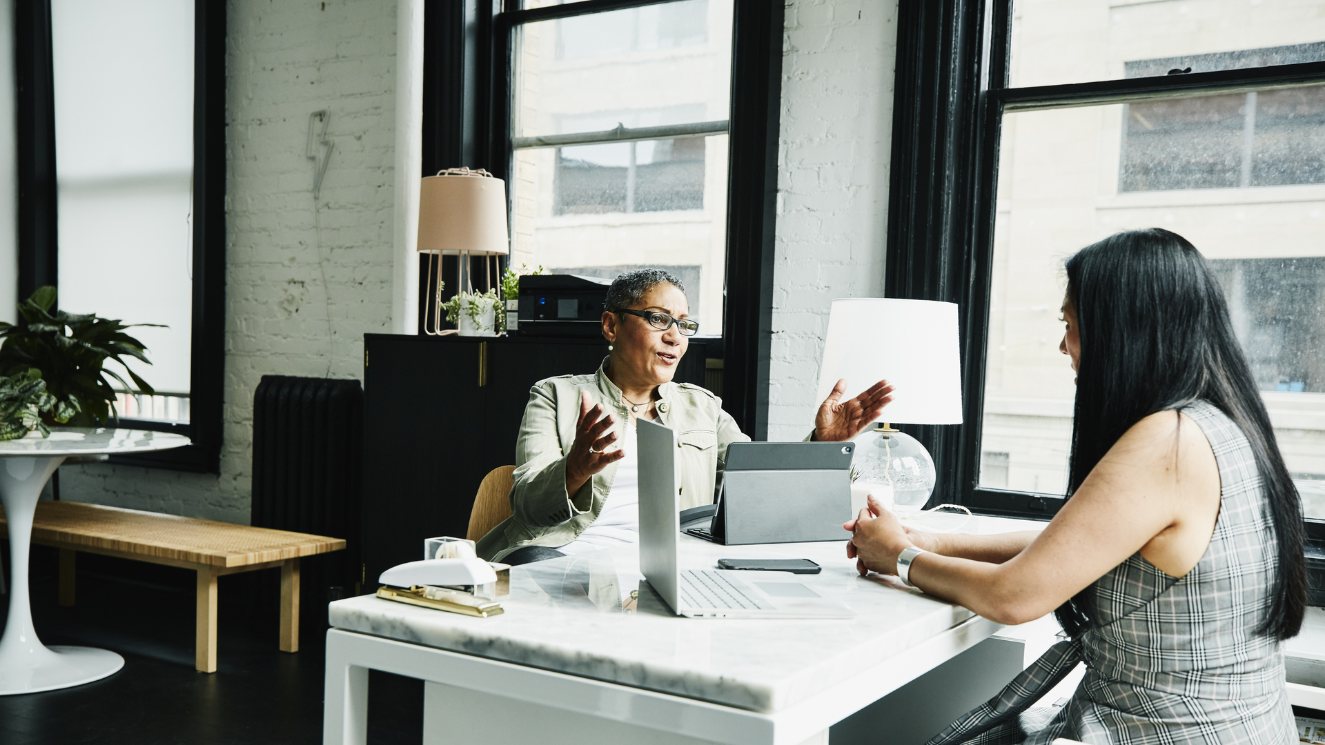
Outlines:
<svg viewBox="0 0 1325 745"><path fill-rule="evenodd" d="M0 322L0 338L4 339L0 375L28 375L29 369L40 371L45 392L53 399L46 410L38 407L45 424L97 427L109 423L111 415L118 416L118 391L106 376L119 382L125 391L135 388L105 367L107 359L125 367L136 390L155 392L126 363L125 358L132 357L151 365L143 342L125 333L130 326L94 313L50 313L54 305L56 288L45 286L19 305L23 319L17 325Z"/></svg>

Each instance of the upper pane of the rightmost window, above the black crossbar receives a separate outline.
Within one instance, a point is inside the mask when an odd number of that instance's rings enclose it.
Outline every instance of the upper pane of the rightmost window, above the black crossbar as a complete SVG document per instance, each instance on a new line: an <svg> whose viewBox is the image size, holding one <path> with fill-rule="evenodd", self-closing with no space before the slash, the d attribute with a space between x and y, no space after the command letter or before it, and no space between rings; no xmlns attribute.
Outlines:
<svg viewBox="0 0 1325 745"><path fill-rule="evenodd" d="M1014 87L1325 60L1310 0L1016 0Z"/></svg>

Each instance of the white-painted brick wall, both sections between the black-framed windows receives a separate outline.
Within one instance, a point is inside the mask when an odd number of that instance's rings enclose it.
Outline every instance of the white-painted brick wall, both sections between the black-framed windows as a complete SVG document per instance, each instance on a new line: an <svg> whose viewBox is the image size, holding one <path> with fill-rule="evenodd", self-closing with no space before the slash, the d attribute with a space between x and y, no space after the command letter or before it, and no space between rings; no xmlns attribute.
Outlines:
<svg viewBox="0 0 1325 745"><path fill-rule="evenodd" d="M894 45L896 1L787 3L771 439L814 419L832 298L882 294ZM221 475L68 467L66 498L248 522L258 379L359 376L363 334L391 329L396 3L231 0L227 65ZM335 151L314 209L318 109Z"/></svg>

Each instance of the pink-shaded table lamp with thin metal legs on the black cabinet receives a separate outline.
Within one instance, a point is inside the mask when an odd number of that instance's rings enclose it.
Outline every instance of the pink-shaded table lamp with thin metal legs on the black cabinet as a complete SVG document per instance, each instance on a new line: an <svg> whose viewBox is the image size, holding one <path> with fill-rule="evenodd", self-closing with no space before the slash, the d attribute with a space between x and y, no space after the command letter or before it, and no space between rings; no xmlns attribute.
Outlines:
<svg viewBox="0 0 1325 745"><path fill-rule="evenodd" d="M419 187L419 253L428 258L428 297L432 298L433 326L427 319L424 333L441 333L441 264L439 256L460 257L460 289L473 290L470 256L484 256L488 286L492 286L492 257L510 253L506 231L506 182L478 168L447 168L424 176Z"/></svg>

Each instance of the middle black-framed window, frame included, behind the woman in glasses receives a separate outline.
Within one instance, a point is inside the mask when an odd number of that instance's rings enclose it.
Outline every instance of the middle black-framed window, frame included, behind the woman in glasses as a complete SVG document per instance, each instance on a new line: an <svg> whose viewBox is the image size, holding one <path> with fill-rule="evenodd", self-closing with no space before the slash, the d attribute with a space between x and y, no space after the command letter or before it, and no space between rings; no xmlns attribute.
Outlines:
<svg viewBox="0 0 1325 745"><path fill-rule="evenodd" d="M425 8L424 172L506 179L517 269L680 276L723 406L766 436L784 3L477 5Z"/></svg>

